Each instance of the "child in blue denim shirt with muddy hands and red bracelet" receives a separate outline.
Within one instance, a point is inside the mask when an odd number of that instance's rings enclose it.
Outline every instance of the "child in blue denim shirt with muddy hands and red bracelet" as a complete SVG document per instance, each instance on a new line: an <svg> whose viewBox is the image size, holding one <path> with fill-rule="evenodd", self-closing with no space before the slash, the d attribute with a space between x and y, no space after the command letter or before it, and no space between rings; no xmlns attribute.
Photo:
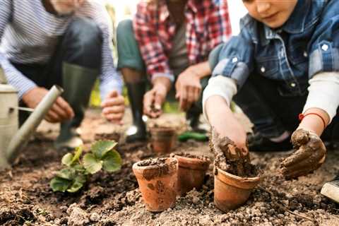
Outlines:
<svg viewBox="0 0 339 226"><path fill-rule="evenodd" d="M210 54L205 117L247 150L246 132L229 107L233 98L257 132L249 150L288 150L292 134L299 150L282 163L283 174L308 174L325 160L321 138L339 141L339 1L243 3L249 14L240 34Z"/></svg>

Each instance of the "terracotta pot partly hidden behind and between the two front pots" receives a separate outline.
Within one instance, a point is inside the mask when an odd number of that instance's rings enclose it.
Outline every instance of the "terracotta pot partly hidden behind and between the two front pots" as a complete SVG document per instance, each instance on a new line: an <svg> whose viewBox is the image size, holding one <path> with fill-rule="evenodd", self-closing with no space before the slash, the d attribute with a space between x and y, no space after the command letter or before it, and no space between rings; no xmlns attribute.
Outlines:
<svg viewBox="0 0 339 226"><path fill-rule="evenodd" d="M201 189L210 160L201 160L196 157L174 155L179 162L178 194L184 196L192 189Z"/></svg>

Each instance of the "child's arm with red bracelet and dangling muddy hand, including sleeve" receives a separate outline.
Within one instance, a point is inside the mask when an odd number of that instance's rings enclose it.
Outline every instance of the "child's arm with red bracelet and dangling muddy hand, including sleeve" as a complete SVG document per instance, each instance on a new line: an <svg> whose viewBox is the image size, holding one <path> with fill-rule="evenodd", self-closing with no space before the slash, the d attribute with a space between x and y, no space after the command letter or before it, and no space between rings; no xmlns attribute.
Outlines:
<svg viewBox="0 0 339 226"><path fill-rule="evenodd" d="M321 133L339 106L339 1L329 1L309 42L309 95L298 129L292 134L297 151L282 162L287 178L300 177L321 167L326 147Z"/></svg>

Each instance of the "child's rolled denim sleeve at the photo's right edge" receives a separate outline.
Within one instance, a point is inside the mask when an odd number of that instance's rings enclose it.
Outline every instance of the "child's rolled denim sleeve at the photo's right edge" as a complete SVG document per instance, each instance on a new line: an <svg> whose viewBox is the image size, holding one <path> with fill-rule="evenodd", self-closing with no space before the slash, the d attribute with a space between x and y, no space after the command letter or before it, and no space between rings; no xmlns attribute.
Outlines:
<svg viewBox="0 0 339 226"><path fill-rule="evenodd" d="M309 78L323 71L339 71L339 1L324 8L309 45Z"/></svg>

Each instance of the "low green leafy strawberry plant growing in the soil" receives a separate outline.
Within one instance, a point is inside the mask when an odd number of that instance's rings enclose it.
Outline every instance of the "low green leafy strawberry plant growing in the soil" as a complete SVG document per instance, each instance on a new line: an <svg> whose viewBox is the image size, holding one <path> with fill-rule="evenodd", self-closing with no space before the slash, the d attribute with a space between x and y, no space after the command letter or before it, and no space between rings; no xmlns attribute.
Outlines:
<svg viewBox="0 0 339 226"><path fill-rule="evenodd" d="M114 147L117 142L97 141L90 148L90 153L81 155L83 149L76 148L74 153L67 153L62 157L61 163L65 167L51 180L53 191L76 192L88 181L91 174L104 169L107 172L116 172L121 169L122 160Z"/></svg>

